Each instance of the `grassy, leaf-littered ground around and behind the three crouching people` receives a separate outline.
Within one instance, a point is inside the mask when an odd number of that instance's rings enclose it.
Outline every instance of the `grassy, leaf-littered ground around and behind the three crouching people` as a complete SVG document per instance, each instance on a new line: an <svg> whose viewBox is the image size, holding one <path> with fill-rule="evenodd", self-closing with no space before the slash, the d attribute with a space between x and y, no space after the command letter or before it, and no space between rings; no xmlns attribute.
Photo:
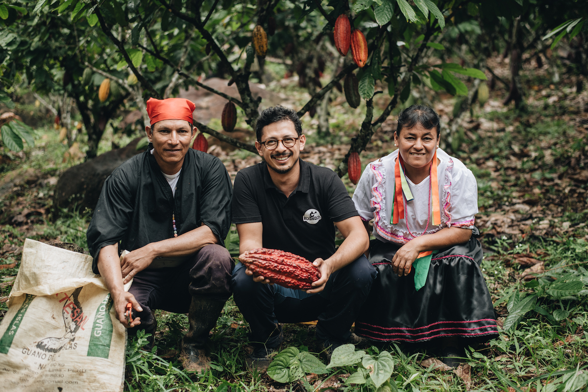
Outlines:
<svg viewBox="0 0 588 392"><path fill-rule="evenodd" d="M424 350L358 346L373 358L384 350L391 353L392 378L379 391L552 392L588 388L588 96L575 92L572 79L564 79L556 87L544 73L526 70L523 75L527 110L504 108L500 99L505 91L492 92L489 102L475 105L472 115L461 124L463 140L452 152L478 180L480 213L476 224L486 251L482 267L499 315L500 337L468 351L466 363L455 370L436 368ZM293 85L289 93L302 102L305 92ZM269 88L278 90L280 86L276 83ZM339 98L335 96L339 105L332 108L331 123L338 142L313 135L316 120L305 116L310 145L303 159L335 167L345 154L345 140L353 136L363 118L362 106L350 111ZM447 122L453 99L432 99ZM390 118L377 131L362 153L364 165L392 150L394 129ZM36 132L34 148L18 155L4 152L0 163L0 189L5 190L0 196L0 317L18 272L25 237L59 239L87 249L89 212L66 212L50 223L56 179L76 162L64 159L67 147L52 128L41 126ZM102 150L111 142L106 138ZM243 152L216 149L215 153L233 173L258 159ZM29 180L11 180L19 177ZM352 192L349 180L343 177L343 181ZM233 254L238 252L234 228L228 246ZM335 367L326 374L306 374L290 383L248 373L244 358L248 326L232 299L211 335L216 347L212 370L188 375L178 363L178 342L187 327L186 316L159 311L158 318L155 351L141 350L144 337L128 346L126 390L375 390L369 383L345 384L348 375L361 367L358 364ZM284 327L284 347L318 352L312 325Z"/></svg>

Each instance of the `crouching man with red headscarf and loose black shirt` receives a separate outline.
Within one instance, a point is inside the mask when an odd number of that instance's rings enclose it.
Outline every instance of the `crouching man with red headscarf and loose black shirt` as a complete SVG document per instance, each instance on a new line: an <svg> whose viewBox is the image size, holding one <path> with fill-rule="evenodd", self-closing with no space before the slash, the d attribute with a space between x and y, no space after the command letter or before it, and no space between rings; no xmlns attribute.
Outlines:
<svg viewBox="0 0 588 392"><path fill-rule="evenodd" d="M147 101L149 148L106 179L87 237L92 268L105 279L123 325L145 329L153 342L153 310L188 313L180 359L199 372L209 368L208 334L231 294L233 261L224 239L232 186L218 158L190 148L194 108L183 98Z"/></svg>

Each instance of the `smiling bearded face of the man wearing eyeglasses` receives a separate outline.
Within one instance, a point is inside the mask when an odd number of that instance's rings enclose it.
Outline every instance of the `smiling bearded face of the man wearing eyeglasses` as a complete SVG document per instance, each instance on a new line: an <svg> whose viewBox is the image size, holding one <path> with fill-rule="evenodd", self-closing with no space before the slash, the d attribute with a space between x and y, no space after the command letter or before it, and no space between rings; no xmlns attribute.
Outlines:
<svg viewBox="0 0 588 392"><path fill-rule="evenodd" d="M266 142L270 139L283 140L286 138L298 138L294 123L290 120L274 122L264 126L262 129L261 142ZM300 135L300 138L290 148L284 147L282 142L278 142L278 146L273 150L268 150L260 142L255 142L255 147L273 172L286 174L293 167L299 165L298 158L300 151L304 149L305 143L306 136Z"/></svg>

